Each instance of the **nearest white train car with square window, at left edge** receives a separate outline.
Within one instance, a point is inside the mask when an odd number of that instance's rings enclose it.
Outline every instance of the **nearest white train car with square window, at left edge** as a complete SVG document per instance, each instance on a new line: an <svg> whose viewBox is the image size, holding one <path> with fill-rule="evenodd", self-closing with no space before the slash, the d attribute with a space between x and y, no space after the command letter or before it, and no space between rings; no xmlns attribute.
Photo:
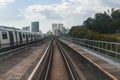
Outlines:
<svg viewBox="0 0 120 80"><path fill-rule="evenodd" d="M0 26L0 48L16 45L17 41L14 28Z"/></svg>

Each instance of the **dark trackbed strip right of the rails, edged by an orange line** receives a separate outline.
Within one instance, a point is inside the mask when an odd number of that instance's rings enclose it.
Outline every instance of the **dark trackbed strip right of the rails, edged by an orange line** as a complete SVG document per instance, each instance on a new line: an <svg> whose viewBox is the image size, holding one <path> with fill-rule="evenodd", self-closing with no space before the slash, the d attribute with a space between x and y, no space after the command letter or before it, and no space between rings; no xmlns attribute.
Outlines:
<svg viewBox="0 0 120 80"><path fill-rule="evenodd" d="M118 80L115 76L101 68L98 64L91 61L86 56L79 54L65 43L61 41L60 43L69 56L78 65L78 69L82 72L86 80Z"/></svg>

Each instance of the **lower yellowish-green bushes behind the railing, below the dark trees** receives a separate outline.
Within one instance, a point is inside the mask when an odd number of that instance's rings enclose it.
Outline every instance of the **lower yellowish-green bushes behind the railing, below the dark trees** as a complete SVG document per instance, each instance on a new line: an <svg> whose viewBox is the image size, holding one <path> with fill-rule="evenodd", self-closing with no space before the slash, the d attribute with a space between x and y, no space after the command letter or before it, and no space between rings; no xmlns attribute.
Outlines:
<svg viewBox="0 0 120 80"><path fill-rule="evenodd" d="M72 27L69 31L69 35L74 38L119 42L119 39L117 39L114 36L93 32L93 31L85 29L83 26Z"/></svg>

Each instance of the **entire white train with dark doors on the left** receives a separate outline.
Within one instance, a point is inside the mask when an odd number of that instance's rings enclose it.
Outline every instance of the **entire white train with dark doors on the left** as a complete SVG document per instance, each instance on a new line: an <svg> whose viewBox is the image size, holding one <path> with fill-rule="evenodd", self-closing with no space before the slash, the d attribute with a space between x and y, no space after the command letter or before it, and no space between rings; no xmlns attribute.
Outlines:
<svg viewBox="0 0 120 80"><path fill-rule="evenodd" d="M34 43L43 38L44 36L40 32L0 26L0 50Z"/></svg>

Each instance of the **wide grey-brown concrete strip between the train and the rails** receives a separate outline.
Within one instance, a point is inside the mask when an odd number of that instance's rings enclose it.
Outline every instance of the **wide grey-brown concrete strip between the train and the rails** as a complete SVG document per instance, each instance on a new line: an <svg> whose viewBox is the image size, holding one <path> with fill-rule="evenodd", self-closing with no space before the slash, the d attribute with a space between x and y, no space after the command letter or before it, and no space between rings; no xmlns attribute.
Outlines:
<svg viewBox="0 0 120 80"><path fill-rule="evenodd" d="M0 62L0 80L27 80L47 43L21 51Z"/></svg>

